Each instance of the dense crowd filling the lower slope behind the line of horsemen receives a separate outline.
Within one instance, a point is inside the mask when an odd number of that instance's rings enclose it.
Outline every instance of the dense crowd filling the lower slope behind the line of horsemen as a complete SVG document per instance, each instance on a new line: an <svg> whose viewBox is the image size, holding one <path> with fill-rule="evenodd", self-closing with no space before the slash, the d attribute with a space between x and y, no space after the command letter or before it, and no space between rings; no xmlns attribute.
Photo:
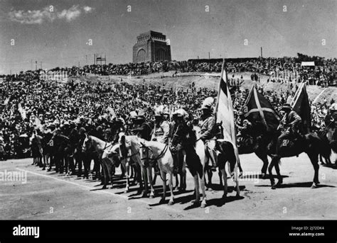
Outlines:
<svg viewBox="0 0 337 243"><path fill-rule="evenodd" d="M201 103L209 96L216 97L217 91L208 88L165 89L154 84L88 83L68 81L68 83L40 81L0 84L6 90L4 105L0 113L0 142L8 157L25 157L30 152L30 137L33 130L47 130L64 124L76 124L81 120L92 125L109 127L114 120L122 120L127 126L132 111L144 110L147 120L154 120L154 108L164 105L168 114L183 108L190 120L200 115ZM266 96L279 111L287 102L289 91L259 91ZM234 89L233 106L235 116L242 110L247 91ZM324 118L328 112L328 101L316 103L312 107L313 127L324 128Z"/></svg>

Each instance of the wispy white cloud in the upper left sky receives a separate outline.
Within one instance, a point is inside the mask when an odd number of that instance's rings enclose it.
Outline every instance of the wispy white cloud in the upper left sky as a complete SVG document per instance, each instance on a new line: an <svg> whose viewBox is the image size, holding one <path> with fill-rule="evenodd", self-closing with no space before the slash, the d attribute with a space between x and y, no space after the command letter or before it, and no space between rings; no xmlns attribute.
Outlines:
<svg viewBox="0 0 337 243"><path fill-rule="evenodd" d="M90 6L81 8L78 5L74 5L70 9L63 9L62 11L57 11L55 8L53 11L50 11L49 7L42 10L14 10L9 12L9 19L23 24L41 24L44 21L53 22L55 19L70 22L80 17L82 13L90 13L92 11L93 8Z"/></svg>

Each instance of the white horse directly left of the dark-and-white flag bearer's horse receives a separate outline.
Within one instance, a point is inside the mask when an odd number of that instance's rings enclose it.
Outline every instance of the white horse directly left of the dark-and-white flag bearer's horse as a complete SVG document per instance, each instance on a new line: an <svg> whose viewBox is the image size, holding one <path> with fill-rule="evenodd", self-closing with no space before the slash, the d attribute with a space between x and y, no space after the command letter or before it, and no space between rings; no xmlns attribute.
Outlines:
<svg viewBox="0 0 337 243"><path fill-rule="evenodd" d="M169 200L169 205L173 205L173 157L169 149L169 145L156 142L156 141L146 141L140 140L141 149L140 157L141 160L146 162L157 162L159 170L161 173L161 180L163 181L163 196L159 203L164 203L166 198L166 174L169 174L169 187L171 191L171 197ZM151 164L151 162L149 164ZM145 165L146 166L146 165Z"/></svg>

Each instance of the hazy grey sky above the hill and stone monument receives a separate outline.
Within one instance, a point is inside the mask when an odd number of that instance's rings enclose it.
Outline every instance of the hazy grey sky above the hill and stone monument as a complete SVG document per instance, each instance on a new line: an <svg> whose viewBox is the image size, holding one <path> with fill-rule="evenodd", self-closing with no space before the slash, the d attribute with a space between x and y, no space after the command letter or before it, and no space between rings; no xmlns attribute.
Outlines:
<svg viewBox="0 0 337 243"><path fill-rule="evenodd" d="M178 61L259 57L260 47L264 57L337 57L336 9L335 0L0 0L0 74L36 61L93 64L95 53L132 62L149 30L166 35Z"/></svg>

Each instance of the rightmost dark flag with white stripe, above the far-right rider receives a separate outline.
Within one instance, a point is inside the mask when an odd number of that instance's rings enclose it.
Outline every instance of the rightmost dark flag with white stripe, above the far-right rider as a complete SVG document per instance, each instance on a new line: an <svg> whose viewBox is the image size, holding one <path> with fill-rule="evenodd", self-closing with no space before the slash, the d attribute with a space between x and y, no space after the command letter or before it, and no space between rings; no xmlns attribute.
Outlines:
<svg viewBox="0 0 337 243"><path fill-rule="evenodd" d="M309 104L308 94L306 93L306 84L302 82L297 89L295 96L291 102L291 107L293 111L302 119L302 126L304 132L311 131L311 108Z"/></svg>

